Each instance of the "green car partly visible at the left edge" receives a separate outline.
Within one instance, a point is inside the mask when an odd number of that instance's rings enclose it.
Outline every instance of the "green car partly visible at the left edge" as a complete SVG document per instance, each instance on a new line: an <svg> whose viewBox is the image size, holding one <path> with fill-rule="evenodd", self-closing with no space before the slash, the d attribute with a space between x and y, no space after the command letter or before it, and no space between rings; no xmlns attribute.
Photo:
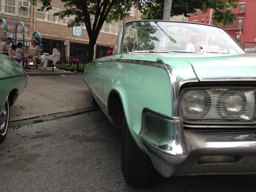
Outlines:
<svg viewBox="0 0 256 192"><path fill-rule="evenodd" d="M27 86L28 76L12 58L0 54L0 143L7 135L10 107Z"/></svg>

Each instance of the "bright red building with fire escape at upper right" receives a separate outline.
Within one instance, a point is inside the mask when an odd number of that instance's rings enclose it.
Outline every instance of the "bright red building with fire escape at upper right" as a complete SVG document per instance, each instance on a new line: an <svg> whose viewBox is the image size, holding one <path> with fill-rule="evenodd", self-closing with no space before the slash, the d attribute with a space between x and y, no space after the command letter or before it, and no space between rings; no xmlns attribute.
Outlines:
<svg viewBox="0 0 256 192"><path fill-rule="evenodd" d="M245 48L253 48L256 46L256 19L255 19L255 10L256 10L256 0L239 0L238 8L233 9L231 7L231 11L236 13L238 17L233 25L221 25L217 24L217 26L223 28L229 35L234 38L240 45ZM212 14L214 10L212 10ZM209 24L211 20L211 9L208 9L206 13L203 13L201 10L198 10L195 13L189 14L189 22L200 22ZM211 25L216 25L211 20ZM241 30L241 36L239 35L239 31Z"/></svg>

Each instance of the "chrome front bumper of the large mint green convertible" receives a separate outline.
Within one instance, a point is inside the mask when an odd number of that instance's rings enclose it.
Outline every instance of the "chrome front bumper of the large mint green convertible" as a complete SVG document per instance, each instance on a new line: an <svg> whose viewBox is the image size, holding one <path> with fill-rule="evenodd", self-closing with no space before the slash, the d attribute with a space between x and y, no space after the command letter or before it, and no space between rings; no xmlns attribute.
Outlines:
<svg viewBox="0 0 256 192"><path fill-rule="evenodd" d="M162 176L256 173L256 131L189 131L182 120L152 112L145 112L142 120L139 139ZM232 163L198 163L202 156L239 158Z"/></svg>

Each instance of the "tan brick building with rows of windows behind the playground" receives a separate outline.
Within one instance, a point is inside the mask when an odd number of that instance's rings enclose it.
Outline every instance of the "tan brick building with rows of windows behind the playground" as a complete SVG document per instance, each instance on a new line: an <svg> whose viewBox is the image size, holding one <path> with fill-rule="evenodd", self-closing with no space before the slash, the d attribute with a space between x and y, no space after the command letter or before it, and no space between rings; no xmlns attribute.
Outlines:
<svg viewBox="0 0 256 192"><path fill-rule="evenodd" d="M55 40L59 47L67 49L67 57L78 58L82 53L86 52L86 49L79 50L79 47L84 47L89 43L88 34L85 25L79 26L81 28L81 36L74 36L73 28L67 27L67 22L74 19L73 16L69 18L59 18L53 16L57 11L65 9L63 2L60 0L52 0L52 10L49 11L37 11L42 6L41 2L37 0L37 5L32 5L30 0L0 0L0 18L6 20L7 24L7 37L13 36L12 33L17 21L21 21L24 24L25 30L22 30L21 23L18 23L17 38L22 38L22 33L25 33L25 39L30 40L35 31L38 31L43 39L43 52L47 52L49 49L45 47L45 44L49 44L49 41ZM139 11L132 7L132 9L126 13L126 21L138 20ZM91 17L91 22L94 22L94 16ZM105 56L106 49L115 45L117 35L120 31L123 21L119 20L112 23L104 23L99 33L96 45L101 47L102 53L97 57ZM4 23L0 20L0 36L4 36ZM35 33L35 37L38 33ZM2 42L2 40L0 40ZM85 51L84 51L85 50ZM97 49L98 50L98 49ZM99 52L98 51L98 52ZM96 51L95 51L96 52ZM84 56L85 57L85 56ZM96 57L96 56L95 56ZM84 60L85 58L80 58Z"/></svg>

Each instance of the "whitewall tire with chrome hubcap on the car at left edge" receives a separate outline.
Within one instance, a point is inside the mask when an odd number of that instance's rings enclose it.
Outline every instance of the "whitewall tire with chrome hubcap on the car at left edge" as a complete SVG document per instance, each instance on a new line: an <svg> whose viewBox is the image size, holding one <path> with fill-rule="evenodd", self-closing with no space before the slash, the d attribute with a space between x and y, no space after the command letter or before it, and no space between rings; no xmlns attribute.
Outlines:
<svg viewBox="0 0 256 192"><path fill-rule="evenodd" d="M7 135L7 129L9 124L9 102L6 100L2 111L0 111L0 143L4 141Z"/></svg>

